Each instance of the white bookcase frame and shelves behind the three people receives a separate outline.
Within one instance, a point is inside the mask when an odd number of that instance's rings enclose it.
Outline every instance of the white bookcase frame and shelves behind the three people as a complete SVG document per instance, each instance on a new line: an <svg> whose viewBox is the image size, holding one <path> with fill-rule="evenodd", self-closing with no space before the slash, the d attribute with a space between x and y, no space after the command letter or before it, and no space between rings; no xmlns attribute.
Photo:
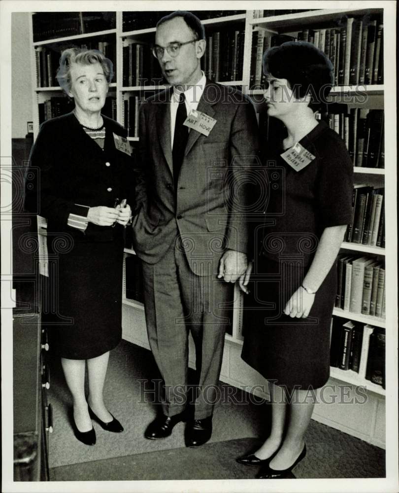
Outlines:
<svg viewBox="0 0 399 493"><path fill-rule="evenodd" d="M344 24L343 19L354 17L355 19L363 18L365 15L376 16L382 18L382 9L377 8L356 8L356 9L315 9L307 11L297 11L283 14L278 14L274 11L273 15L265 15L263 11L247 10L245 12L231 13L226 16L216 16L202 20L205 26L205 34L214 35L217 32L236 32L242 33L241 42L243 49L241 56L242 75L239 80L221 80L220 83L225 85L238 86L247 94L257 110L262 106L263 89L260 87L253 88L251 85L251 56L252 56L252 35L254 30L262 28L269 35L297 35L300 31L311 28L313 30L331 29L339 27L341 29ZM163 90L167 87L161 79L147 80L140 83L129 84L127 77L126 58L124 64L124 47L129 45L142 45L144 49L148 49L153 42L155 34L155 23L148 25L148 19L145 20L146 12L116 12L115 24L112 29L105 29L90 33L77 33L68 36L59 36L43 40L32 41L32 80L33 80L33 127L34 137L37 136L39 127L39 111L38 106L50 98L59 98L61 96L61 88L54 87L38 87L36 81L37 66L36 66L36 50L40 48L48 49L64 49L68 43L72 45L83 45L91 43L91 46L98 42L105 42L106 46L112 45L112 50L115 56L114 65L114 81L110 84L109 95L114 99L113 117L122 125L127 119L127 107L129 98L137 98L137 105L143 97L149 96L154 92ZM207 14L211 15L210 12ZM33 40L33 16L31 15L30 31L31 39ZM136 15L138 18L134 19ZM142 18L140 16L143 16ZM159 15L160 18L163 14ZM138 20L137 20L138 19ZM342 21L340 21L342 19ZM146 24L144 24L144 21ZM132 25L137 29L131 29ZM145 27L143 27L145 26ZM126 29L125 29L126 28ZM338 29L338 28L337 28ZM242 41L243 40L243 41ZM138 50L138 49L137 49ZM141 50L141 48L140 48ZM136 52L139 53L139 50ZM109 56L109 55L107 55ZM140 55L141 56L141 55ZM126 55L125 55L126 57ZM151 55L152 57L152 55ZM110 57L111 58L111 57ZM111 58L112 59L112 58ZM155 58L154 61L156 62ZM252 61L253 63L253 61ZM116 70L115 70L116 69ZM133 67L132 67L133 69ZM133 76L132 76L133 80ZM124 83L125 81L125 83ZM152 85L153 84L153 85ZM384 108L384 84L339 84L332 88L331 101L344 101L348 105L348 109L359 107L356 102L356 96L359 94L366 95L366 105L369 108L383 109ZM62 99L65 100L64 97ZM349 99L349 102L348 102ZM128 102L128 104L126 103ZM134 147L138 142L138 137L134 131L128 137L131 145ZM385 169L375 167L354 167L355 181L369 184L375 188L382 188L385 183ZM385 248L380 246L371 246L363 244L355 244L344 242L341 252L353 253L354 255L370 255L375 256L381 261L385 257ZM125 259L134 255L132 248L125 248ZM138 344L142 347L149 348L148 339L145 328L144 306L140 301L126 297L126 277L123 283L123 337ZM264 385L264 379L254 370L249 368L240 358L242 347L242 308L243 295L235 286L234 301L233 301L233 324L231 333L226 334L225 352L223 357L221 380L235 385L236 387L252 387L254 385ZM351 313L340 308L334 308L334 317L350 319L355 322L369 324L374 327L385 328L385 320L381 317L371 317L363 314ZM195 366L194 347L190 341L190 364ZM359 374L353 370L341 370L339 368L331 368L330 384L334 385L352 385L366 387L367 389L367 406L363 408L363 414L366 415L364 423L359 423L358 411L355 408L339 405L316 406L313 419L328 424L332 427L346 431L354 436L362 438L369 443L385 446L384 434L384 419L385 419L385 390L380 386L371 383L364 378L360 378ZM263 395L267 397L267 394ZM343 407L343 409L342 409Z"/></svg>

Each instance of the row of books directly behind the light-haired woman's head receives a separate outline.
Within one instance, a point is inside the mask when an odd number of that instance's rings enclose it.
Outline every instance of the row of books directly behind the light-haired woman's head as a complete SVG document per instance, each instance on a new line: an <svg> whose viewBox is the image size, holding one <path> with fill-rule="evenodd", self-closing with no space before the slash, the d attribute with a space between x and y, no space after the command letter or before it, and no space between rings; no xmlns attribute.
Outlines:
<svg viewBox="0 0 399 493"><path fill-rule="evenodd" d="M72 44L67 46L72 47ZM106 58L113 63L114 78L116 76L116 44L109 41L92 41L79 45L80 48L89 50L100 50ZM60 57L62 49L66 46L58 47L37 46L35 49L36 61L36 87L54 87L58 86L56 79L57 70L60 66Z"/></svg>

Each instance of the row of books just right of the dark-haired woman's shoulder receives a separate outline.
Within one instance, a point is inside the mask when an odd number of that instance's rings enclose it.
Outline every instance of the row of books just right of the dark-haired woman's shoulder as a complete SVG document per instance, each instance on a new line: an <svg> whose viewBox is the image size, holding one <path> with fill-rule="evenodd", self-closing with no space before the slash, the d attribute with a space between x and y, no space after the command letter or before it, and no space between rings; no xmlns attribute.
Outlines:
<svg viewBox="0 0 399 493"><path fill-rule="evenodd" d="M328 104L316 117L324 120L341 137L354 166L384 168L384 110L350 108L340 103Z"/></svg>

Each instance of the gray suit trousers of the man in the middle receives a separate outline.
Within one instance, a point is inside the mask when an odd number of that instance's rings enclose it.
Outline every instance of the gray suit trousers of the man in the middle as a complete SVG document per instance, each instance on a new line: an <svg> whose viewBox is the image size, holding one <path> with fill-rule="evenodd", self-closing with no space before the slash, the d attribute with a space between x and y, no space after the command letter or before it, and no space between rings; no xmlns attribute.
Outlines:
<svg viewBox="0 0 399 493"><path fill-rule="evenodd" d="M233 284L216 275L194 274L179 241L156 264L142 265L148 339L165 383L163 412L174 416L186 407L182 396L187 393L191 332L199 373L195 419L211 416L219 394L225 332L232 323Z"/></svg>

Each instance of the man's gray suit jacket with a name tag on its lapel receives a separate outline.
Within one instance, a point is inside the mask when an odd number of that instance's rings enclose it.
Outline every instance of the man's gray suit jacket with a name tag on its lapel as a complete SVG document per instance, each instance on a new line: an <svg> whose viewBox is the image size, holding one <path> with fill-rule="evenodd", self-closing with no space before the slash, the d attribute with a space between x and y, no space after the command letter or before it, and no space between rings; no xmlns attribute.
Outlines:
<svg viewBox="0 0 399 493"><path fill-rule="evenodd" d="M258 154L255 110L241 92L207 82L197 109L216 124L208 137L190 130L176 180L171 91L140 107L133 246L142 260L156 263L180 236L193 272L211 275L227 248L247 252L248 173Z"/></svg>

